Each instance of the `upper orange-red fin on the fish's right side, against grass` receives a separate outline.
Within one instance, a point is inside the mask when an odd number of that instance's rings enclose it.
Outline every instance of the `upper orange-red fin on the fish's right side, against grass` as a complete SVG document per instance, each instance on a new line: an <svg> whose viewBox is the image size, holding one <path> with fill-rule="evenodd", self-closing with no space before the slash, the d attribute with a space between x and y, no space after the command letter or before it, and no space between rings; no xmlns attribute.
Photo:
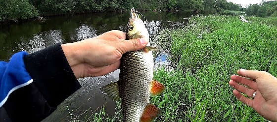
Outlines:
<svg viewBox="0 0 277 122"><path fill-rule="evenodd" d="M151 95L158 95L164 91L165 87L156 80L152 80L150 83L150 93Z"/></svg>

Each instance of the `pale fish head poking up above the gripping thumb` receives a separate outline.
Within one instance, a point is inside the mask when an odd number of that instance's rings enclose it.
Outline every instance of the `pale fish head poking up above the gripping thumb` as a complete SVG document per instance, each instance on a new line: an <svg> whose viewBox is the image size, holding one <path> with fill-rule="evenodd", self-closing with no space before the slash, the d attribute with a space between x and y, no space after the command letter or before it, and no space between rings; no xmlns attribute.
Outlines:
<svg viewBox="0 0 277 122"><path fill-rule="evenodd" d="M127 26L127 36L129 39L144 38L149 41L149 34L144 25L144 22L140 19L134 8L131 10L131 18L129 18L129 23ZM150 44L150 43L148 43ZM150 45L148 45L150 46Z"/></svg>

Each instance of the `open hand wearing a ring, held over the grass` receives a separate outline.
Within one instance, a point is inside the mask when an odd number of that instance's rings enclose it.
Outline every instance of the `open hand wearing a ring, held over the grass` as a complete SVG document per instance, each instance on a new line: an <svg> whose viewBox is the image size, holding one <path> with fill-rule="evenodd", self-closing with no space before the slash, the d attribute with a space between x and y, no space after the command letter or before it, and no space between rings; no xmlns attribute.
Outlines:
<svg viewBox="0 0 277 122"><path fill-rule="evenodd" d="M240 69L237 74L240 76L231 75L229 82L229 85L236 89L233 90L234 96L264 118L277 122L277 78L268 72L256 70ZM256 95L250 99L239 91L249 97L256 91Z"/></svg>

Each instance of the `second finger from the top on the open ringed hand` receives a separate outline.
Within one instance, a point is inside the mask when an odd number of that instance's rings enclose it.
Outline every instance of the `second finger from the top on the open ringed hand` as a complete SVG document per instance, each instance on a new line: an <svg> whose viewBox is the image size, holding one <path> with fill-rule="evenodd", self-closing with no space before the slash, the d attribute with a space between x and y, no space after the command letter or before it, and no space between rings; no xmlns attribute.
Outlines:
<svg viewBox="0 0 277 122"><path fill-rule="evenodd" d="M237 83L241 83L243 85L246 85L246 86L250 87L251 89L257 91L257 83L250 80L250 79L247 79L247 78L244 78L244 77L241 77L241 76L237 76L237 75L231 75L231 80L235 81Z"/></svg>

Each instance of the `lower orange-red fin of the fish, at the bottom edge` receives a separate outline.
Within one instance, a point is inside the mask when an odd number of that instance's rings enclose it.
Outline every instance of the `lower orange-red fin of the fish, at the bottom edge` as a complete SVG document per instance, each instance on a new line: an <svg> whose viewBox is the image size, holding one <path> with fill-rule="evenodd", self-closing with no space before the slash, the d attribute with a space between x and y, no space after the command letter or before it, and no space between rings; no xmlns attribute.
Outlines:
<svg viewBox="0 0 277 122"><path fill-rule="evenodd" d="M140 117L140 122L151 122L158 115L159 109L156 106L148 103Z"/></svg>

